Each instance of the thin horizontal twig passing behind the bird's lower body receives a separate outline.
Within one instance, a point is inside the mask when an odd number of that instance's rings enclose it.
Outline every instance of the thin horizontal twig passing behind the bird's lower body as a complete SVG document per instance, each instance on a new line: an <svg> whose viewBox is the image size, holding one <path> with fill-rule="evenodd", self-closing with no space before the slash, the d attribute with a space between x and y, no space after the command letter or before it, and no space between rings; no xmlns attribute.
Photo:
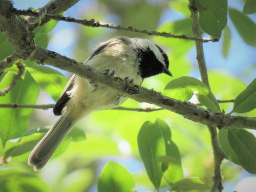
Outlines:
<svg viewBox="0 0 256 192"><path fill-rule="evenodd" d="M229 100L217 100L219 103L227 103L234 102L234 99ZM201 103L197 103L197 105L201 105ZM0 108L31 108L31 109L41 109L48 110L53 108L54 104L17 104L17 103L3 103L0 104ZM113 108L111 110L123 110L123 111L137 111L137 112L154 112L165 110L162 108L125 108L123 106L118 106L117 108Z"/></svg>

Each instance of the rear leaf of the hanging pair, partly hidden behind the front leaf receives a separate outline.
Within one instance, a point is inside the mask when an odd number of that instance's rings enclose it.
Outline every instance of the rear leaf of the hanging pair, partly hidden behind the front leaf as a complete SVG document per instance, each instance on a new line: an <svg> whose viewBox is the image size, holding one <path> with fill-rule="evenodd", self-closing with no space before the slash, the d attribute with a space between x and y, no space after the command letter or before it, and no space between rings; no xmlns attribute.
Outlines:
<svg viewBox="0 0 256 192"><path fill-rule="evenodd" d="M169 157L175 159L174 162L167 161L167 163L164 163L162 165L164 176L170 183L175 183L183 179L183 170L181 167L181 157L179 148L171 139L172 134L167 123L164 120L157 118L155 124L161 129L164 137L166 156L161 157ZM157 160L161 161L161 158L157 158Z"/></svg>

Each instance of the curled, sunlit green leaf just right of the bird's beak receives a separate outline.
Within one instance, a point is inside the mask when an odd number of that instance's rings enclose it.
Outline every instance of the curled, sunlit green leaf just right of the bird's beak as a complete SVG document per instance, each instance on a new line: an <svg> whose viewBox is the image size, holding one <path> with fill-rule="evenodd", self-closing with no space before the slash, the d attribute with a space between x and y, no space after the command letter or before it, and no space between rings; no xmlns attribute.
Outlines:
<svg viewBox="0 0 256 192"><path fill-rule="evenodd" d="M182 101L189 100L196 95L199 102L213 111L220 111L220 106L214 94L200 80L194 77L180 77L174 79L164 88L164 95L179 99Z"/></svg>

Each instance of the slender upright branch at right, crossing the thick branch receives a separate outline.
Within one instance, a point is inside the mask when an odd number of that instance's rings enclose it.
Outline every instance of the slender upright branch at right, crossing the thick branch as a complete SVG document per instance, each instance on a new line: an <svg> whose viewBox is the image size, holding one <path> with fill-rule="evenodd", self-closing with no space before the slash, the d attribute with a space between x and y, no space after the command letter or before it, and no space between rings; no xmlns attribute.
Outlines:
<svg viewBox="0 0 256 192"><path fill-rule="evenodd" d="M189 10L191 12L191 18L193 21L193 34L198 38L202 38L203 31L199 26L198 22L198 11L195 6L195 0L189 0ZM210 84L208 80L207 67L204 58L204 50L202 42L196 41L196 50L197 50L197 61L201 74L201 78L204 84L208 86L210 89ZM211 144L212 150L214 151L214 184L211 187L211 192L222 191L222 177L221 177L221 162L224 158L223 151L220 147L218 134L216 130L216 126L208 126L210 136L211 136Z"/></svg>

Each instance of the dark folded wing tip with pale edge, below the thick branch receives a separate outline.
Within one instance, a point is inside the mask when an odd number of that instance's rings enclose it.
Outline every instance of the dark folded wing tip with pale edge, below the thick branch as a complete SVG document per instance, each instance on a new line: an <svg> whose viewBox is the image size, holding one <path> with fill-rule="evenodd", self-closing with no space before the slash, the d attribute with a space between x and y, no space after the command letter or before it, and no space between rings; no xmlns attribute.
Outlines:
<svg viewBox="0 0 256 192"><path fill-rule="evenodd" d="M56 104L54 105L54 108L53 108L54 115L61 115L62 109L67 104L68 100L70 99L67 92L70 91L73 88L75 79L76 79L76 75L73 75L70 78L70 80L67 83L64 90L62 91L59 99L57 100Z"/></svg>

